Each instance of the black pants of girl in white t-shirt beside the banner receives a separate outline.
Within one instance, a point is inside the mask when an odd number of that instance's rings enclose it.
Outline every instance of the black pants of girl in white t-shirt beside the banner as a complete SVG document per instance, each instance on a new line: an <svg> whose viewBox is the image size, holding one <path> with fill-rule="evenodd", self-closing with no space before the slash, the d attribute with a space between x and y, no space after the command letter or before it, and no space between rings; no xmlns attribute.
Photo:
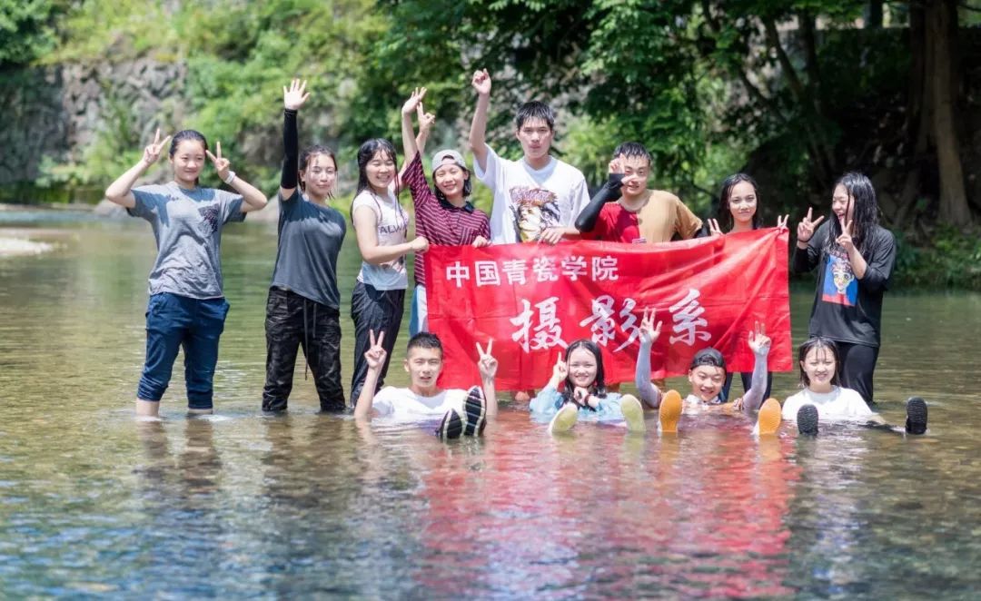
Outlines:
<svg viewBox="0 0 981 601"><path fill-rule="evenodd" d="M378 378L375 391L382 389L385 376L388 374L388 364L391 362L391 351L395 348L395 338L398 328L402 326L402 309L405 306L405 290L376 290L374 286L359 281L354 285L351 294L351 320L354 321L354 374L351 376L351 404L358 402L361 386L368 376L368 362L365 353L371 344L368 331L385 332L382 346L387 354L382 374Z"/></svg>

